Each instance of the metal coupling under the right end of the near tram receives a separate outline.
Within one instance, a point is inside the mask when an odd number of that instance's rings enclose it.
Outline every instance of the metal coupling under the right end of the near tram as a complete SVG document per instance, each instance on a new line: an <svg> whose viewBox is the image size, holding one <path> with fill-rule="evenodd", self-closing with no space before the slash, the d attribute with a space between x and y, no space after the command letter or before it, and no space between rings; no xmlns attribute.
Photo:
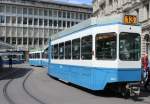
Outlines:
<svg viewBox="0 0 150 104"><path fill-rule="evenodd" d="M139 96L140 95L140 83L128 83L126 89L130 96Z"/></svg>

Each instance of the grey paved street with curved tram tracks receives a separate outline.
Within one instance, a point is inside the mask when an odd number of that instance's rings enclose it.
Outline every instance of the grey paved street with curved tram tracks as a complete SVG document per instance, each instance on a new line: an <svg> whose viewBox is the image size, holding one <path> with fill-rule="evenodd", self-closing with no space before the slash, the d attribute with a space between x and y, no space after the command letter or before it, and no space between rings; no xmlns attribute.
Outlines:
<svg viewBox="0 0 150 104"><path fill-rule="evenodd" d="M0 80L0 104L150 104L150 92L125 99L112 92L93 92L47 75L47 69L16 65Z"/></svg>

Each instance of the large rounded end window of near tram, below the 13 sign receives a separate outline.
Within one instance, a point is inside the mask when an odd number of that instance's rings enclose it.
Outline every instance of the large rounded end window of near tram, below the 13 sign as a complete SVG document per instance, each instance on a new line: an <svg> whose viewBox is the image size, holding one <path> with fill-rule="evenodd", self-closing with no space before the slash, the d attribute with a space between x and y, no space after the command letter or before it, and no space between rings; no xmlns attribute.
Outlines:
<svg viewBox="0 0 150 104"><path fill-rule="evenodd" d="M140 60L140 35L123 32L119 35L119 58L122 61Z"/></svg>

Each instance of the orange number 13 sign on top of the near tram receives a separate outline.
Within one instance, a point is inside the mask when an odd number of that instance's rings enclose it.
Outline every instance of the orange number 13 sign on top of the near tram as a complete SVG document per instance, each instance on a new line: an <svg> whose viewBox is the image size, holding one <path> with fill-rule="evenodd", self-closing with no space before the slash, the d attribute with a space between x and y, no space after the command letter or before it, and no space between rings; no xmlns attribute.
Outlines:
<svg viewBox="0 0 150 104"><path fill-rule="evenodd" d="M137 23L137 18L136 18L136 16L125 15L125 16L124 16L124 23L125 23L125 24L134 25L134 24Z"/></svg>

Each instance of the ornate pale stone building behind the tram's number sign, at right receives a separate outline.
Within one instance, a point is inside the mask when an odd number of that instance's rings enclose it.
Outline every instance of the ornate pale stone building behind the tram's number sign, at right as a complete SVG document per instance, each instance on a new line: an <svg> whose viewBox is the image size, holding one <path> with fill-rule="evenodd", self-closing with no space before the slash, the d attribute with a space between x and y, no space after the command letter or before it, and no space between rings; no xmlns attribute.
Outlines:
<svg viewBox="0 0 150 104"><path fill-rule="evenodd" d="M150 0L93 0L93 16L136 15L142 25L142 54L150 55Z"/></svg>

